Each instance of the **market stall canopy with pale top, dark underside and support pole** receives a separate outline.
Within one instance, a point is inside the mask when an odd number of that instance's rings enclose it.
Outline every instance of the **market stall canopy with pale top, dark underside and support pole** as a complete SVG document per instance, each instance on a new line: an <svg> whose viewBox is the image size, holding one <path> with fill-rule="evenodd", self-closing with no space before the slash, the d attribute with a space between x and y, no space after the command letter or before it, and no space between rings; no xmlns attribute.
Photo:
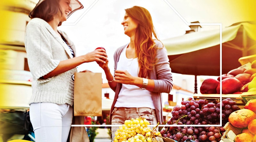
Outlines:
<svg viewBox="0 0 256 142"><path fill-rule="evenodd" d="M255 34L255 21L239 22L222 29L222 44L219 29L189 33L162 42L167 49L172 72L195 75L197 93L197 75L228 73L240 66L240 57L256 54Z"/></svg>

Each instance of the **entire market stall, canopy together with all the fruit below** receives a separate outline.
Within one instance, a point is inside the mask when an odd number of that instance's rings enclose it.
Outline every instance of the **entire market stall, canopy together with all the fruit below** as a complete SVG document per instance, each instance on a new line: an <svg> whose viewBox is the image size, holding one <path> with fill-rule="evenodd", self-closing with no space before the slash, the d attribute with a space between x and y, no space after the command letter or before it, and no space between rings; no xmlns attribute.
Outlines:
<svg viewBox="0 0 256 142"><path fill-rule="evenodd" d="M136 130L128 132L134 141L256 141L255 22L241 22L223 28L221 44L219 30L185 34L163 40L163 43L172 72L220 78L205 79L200 93L174 106L172 117L161 130L153 128L149 132L142 118L131 119L119 127L114 141L126 139L123 129ZM137 130L131 125L143 126Z"/></svg>

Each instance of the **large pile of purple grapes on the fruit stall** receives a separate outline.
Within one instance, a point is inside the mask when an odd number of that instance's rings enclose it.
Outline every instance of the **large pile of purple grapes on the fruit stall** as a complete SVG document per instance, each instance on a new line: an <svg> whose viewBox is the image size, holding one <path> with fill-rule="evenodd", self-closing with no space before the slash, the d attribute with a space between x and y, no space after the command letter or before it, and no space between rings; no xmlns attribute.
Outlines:
<svg viewBox="0 0 256 142"><path fill-rule="evenodd" d="M207 125L220 124L220 105L222 105L222 127L180 127L178 125ZM194 100L188 98L181 101L181 106L176 105L172 110L172 117L167 121L169 126L163 128L160 133L164 138L171 138L179 142L192 139L196 142L220 141L225 132L223 126L228 122L228 116L240 109L236 101L230 98L222 100L208 101L205 99Z"/></svg>

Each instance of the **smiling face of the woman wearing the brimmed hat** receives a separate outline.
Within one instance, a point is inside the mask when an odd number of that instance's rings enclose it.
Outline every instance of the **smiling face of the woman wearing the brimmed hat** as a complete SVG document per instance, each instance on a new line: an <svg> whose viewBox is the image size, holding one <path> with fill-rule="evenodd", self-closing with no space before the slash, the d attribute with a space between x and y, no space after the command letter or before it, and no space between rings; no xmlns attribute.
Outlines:
<svg viewBox="0 0 256 142"><path fill-rule="evenodd" d="M66 21L68 14L71 12L70 0L60 0L60 7L62 11L62 16L60 14L60 21Z"/></svg>

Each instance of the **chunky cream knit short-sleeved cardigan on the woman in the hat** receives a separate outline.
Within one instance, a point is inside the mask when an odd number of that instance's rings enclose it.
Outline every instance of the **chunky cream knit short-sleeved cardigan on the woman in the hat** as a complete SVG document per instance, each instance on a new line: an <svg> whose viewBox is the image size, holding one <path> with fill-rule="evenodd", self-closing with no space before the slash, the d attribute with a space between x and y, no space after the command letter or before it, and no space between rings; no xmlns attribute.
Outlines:
<svg viewBox="0 0 256 142"><path fill-rule="evenodd" d="M67 34L58 31L66 39L76 56L74 43ZM62 60L72 58L67 44L43 19L33 18L28 22L25 34L25 48L28 66L33 75L32 97L29 103L52 102L56 104L74 103L74 81L71 76L76 68L51 78L44 75L53 71Z"/></svg>

